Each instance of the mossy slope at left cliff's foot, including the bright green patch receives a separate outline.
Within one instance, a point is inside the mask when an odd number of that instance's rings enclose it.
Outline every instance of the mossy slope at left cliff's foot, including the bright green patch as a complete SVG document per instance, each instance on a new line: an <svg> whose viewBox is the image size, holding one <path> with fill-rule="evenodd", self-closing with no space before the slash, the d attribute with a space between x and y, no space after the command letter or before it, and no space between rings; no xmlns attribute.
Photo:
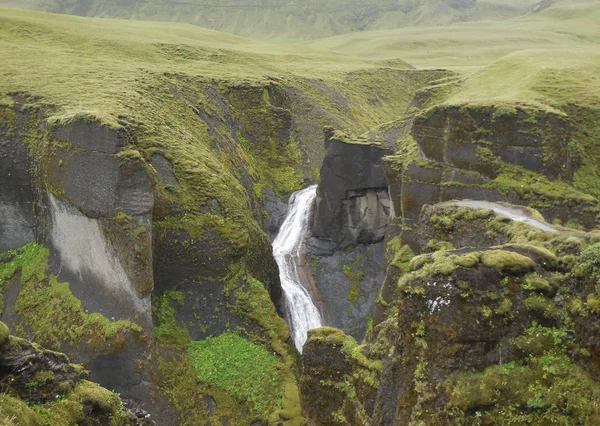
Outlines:
<svg viewBox="0 0 600 426"><path fill-rule="evenodd" d="M240 285L240 280L245 283ZM235 304L224 304L222 309L253 322L259 331L224 324L223 333L193 341L175 313L185 303L185 295L166 292L155 310L156 390L168 397L184 425L209 419L206 396L217 403L213 418L231 424L261 420L303 425L289 330L263 283L237 268L223 291L233 296ZM249 414L244 414L247 409Z"/></svg>

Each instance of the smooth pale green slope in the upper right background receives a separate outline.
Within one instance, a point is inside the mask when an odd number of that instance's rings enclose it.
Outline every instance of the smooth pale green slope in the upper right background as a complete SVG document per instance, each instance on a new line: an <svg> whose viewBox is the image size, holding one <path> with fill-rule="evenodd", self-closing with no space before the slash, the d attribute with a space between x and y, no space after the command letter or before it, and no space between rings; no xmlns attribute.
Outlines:
<svg viewBox="0 0 600 426"><path fill-rule="evenodd" d="M468 68L525 49L576 50L600 43L600 2L556 3L506 22L457 23L364 31L302 43L378 60L402 58L417 67Z"/></svg>

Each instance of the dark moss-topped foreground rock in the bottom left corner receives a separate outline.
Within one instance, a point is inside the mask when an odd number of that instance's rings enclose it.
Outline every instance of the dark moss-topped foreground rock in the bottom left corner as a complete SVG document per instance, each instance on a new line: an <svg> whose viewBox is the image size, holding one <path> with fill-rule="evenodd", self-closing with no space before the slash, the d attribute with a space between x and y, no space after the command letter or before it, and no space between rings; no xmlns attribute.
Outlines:
<svg viewBox="0 0 600 426"><path fill-rule="evenodd" d="M124 408L118 395L89 382L89 372L66 355L10 336L0 323L0 421L7 424L137 425L155 423L143 410ZM36 406L36 411L30 406ZM47 423L44 423L47 424Z"/></svg>

